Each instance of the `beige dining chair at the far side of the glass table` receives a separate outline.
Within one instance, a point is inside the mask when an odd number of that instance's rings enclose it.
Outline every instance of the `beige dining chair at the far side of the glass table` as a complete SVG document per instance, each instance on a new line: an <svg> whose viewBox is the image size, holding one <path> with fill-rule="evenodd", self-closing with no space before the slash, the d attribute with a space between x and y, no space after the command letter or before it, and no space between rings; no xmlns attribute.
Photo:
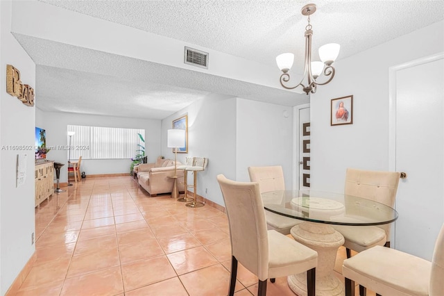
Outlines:
<svg viewBox="0 0 444 296"><path fill-rule="evenodd" d="M250 175L250 181L259 183L261 193L273 190L285 190L284 172L280 165L248 167L248 174ZM273 229L285 235L290 234L293 226L302 223L302 220L298 221L269 211L265 211L265 217L268 229Z"/></svg>

